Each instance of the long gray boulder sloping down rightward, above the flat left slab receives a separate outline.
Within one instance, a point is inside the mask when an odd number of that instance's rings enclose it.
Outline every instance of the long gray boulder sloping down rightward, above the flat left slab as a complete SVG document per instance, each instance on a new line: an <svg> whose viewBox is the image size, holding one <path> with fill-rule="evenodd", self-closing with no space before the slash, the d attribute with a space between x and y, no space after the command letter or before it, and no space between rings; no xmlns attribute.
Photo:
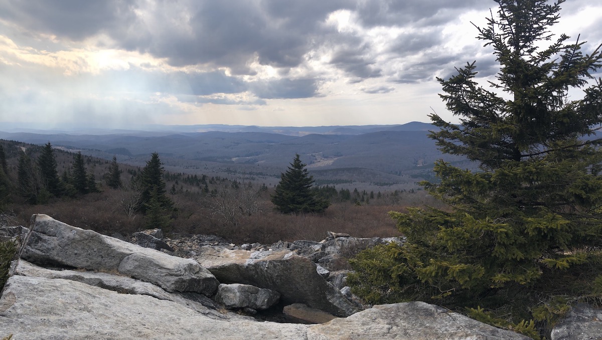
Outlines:
<svg viewBox="0 0 602 340"><path fill-rule="evenodd" d="M22 258L31 263L117 271L166 291L206 296L213 295L219 285L211 273L190 259L70 226L44 214L34 217L34 231L22 254Z"/></svg>

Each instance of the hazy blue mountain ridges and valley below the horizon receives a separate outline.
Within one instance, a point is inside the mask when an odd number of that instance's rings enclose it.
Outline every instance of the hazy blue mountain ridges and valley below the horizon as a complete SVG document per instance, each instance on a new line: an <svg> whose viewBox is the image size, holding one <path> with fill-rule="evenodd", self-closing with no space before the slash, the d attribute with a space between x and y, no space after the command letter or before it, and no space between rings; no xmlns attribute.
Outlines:
<svg viewBox="0 0 602 340"><path fill-rule="evenodd" d="M200 129L209 131L199 132ZM392 126L211 125L168 126L162 132L117 130L98 135L82 131L0 132L0 138L39 145L51 142L55 147L82 150L104 159L115 155L120 162L138 166L144 165L151 153L158 152L170 171L202 169L272 178L278 178L298 153L323 183L415 183L432 178L432 165L438 159L473 167L462 157L441 154L435 141L428 137L429 130L435 127L420 122Z"/></svg>

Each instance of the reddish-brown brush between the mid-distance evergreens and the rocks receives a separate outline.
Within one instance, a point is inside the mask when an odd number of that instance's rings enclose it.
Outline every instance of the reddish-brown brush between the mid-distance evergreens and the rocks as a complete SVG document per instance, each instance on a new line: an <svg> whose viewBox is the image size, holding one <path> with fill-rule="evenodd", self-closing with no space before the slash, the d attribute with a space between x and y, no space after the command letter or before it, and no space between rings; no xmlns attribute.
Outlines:
<svg viewBox="0 0 602 340"><path fill-rule="evenodd" d="M27 225L34 213L48 214L54 219L83 229L92 229L102 234L116 232L128 237L145 228L143 216L128 216L118 207L119 190L104 188L102 193L93 193L78 199L58 199L46 205L27 205L16 202L13 211L17 222ZM261 213L241 216L237 225L228 225L211 218L203 203L204 198L194 195L175 195L178 214L172 219L170 234L194 235L213 234L233 243L262 244L278 240L314 240L326 237L326 231L346 232L355 237L391 237L399 235L388 211L405 211L408 206L437 204L424 192L407 194L399 204L387 205L377 199L367 205L355 205L348 201L331 205L323 214L285 215L273 210L269 195L259 202Z"/></svg>

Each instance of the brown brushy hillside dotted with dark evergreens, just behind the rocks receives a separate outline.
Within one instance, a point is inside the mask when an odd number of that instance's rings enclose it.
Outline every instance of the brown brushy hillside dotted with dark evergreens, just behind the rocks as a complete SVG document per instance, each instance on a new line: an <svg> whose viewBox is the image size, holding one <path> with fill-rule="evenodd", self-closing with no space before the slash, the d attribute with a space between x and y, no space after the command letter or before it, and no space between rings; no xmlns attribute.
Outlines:
<svg viewBox="0 0 602 340"><path fill-rule="evenodd" d="M83 155L80 159L79 153L51 148L58 177L55 185L61 188L56 191L48 186L48 180L43 180L40 167L48 148L5 140L0 140L0 145L7 163L7 181L2 190L8 192L2 211L22 225L27 225L31 214L45 213L108 235L129 235L163 226L168 235L215 234L232 241L269 243L321 240L327 230L360 237L397 235L399 232L387 211L437 204L423 190L386 190L386 186L376 191L343 189L337 184L316 183L320 184L315 189L319 195L332 202L323 214L281 214L270 202L273 186L253 175L163 170L160 178L164 182L164 196L172 205L169 209L159 205L160 215L153 219L146 214L146 208L152 208L150 196L146 201L143 199L143 178L148 162L153 159L151 154L145 157L144 165L132 166ZM158 162L163 161L161 154L157 158ZM163 168L158 162L155 171ZM49 163L52 169L53 162Z"/></svg>

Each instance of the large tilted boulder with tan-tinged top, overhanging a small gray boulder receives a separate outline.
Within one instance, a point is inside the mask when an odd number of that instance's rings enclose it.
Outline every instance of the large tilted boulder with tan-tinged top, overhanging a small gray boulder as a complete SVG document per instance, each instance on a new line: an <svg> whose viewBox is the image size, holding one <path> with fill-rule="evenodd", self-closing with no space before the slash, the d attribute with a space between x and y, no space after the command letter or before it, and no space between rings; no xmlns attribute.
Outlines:
<svg viewBox="0 0 602 340"><path fill-rule="evenodd" d="M203 247L196 260L225 284L247 284L277 291L287 303L305 303L338 317L358 311L318 274L315 264L289 250L247 251Z"/></svg>

